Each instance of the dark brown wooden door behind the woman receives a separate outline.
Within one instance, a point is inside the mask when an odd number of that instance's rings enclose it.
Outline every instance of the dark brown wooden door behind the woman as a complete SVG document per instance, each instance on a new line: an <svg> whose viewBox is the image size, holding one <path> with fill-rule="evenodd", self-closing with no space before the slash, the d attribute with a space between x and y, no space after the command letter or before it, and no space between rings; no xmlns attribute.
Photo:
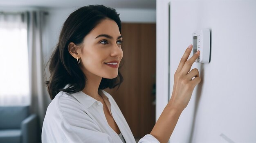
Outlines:
<svg viewBox="0 0 256 143"><path fill-rule="evenodd" d="M119 89L105 89L117 102L135 138L149 134L155 125L156 74L155 24L122 23L124 82Z"/></svg>

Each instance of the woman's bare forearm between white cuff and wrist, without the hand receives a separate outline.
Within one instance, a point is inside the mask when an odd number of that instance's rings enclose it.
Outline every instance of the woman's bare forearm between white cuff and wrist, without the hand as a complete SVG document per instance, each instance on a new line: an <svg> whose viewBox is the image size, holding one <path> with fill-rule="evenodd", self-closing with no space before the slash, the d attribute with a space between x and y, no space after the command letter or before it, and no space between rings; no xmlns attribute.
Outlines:
<svg viewBox="0 0 256 143"><path fill-rule="evenodd" d="M167 143L181 113L182 110L174 108L170 103L168 103L150 134L158 139L160 143Z"/></svg>

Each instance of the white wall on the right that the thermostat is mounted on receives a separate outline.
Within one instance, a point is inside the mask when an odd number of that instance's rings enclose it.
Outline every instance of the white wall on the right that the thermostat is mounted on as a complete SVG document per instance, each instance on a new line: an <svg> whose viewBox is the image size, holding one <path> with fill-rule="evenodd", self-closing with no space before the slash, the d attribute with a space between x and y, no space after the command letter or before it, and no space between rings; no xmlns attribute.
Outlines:
<svg viewBox="0 0 256 143"><path fill-rule="evenodd" d="M168 5L168 1L159 0L158 4ZM166 9L157 6L157 16ZM180 116L170 142L255 143L256 1L171 0L170 9L169 93L180 58L192 42L192 32L211 29L211 62L194 63L192 69L199 69L202 82ZM157 18L157 24L163 22L168 23L168 19Z"/></svg>

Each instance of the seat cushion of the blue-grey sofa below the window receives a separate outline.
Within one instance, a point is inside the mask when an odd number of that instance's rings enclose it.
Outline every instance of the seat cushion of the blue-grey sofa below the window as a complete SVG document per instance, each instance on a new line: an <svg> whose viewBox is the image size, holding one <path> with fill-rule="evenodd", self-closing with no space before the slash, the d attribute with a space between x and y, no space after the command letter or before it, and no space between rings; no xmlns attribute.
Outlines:
<svg viewBox="0 0 256 143"><path fill-rule="evenodd" d="M0 143L21 143L21 130L0 130Z"/></svg>

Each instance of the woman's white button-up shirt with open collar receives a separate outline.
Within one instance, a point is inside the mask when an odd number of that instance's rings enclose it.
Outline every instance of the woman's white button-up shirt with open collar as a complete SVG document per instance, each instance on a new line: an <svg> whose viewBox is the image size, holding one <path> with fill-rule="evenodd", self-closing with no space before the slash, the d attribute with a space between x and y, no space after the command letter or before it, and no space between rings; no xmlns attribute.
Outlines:
<svg viewBox="0 0 256 143"><path fill-rule="evenodd" d="M126 143L136 143L132 132L110 94L101 90ZM119 135L109 126L103 104L82 91L59 92L49 104L42 130L43 143L122 143ZM146 134L139 143L159 143Z"/></svg>

